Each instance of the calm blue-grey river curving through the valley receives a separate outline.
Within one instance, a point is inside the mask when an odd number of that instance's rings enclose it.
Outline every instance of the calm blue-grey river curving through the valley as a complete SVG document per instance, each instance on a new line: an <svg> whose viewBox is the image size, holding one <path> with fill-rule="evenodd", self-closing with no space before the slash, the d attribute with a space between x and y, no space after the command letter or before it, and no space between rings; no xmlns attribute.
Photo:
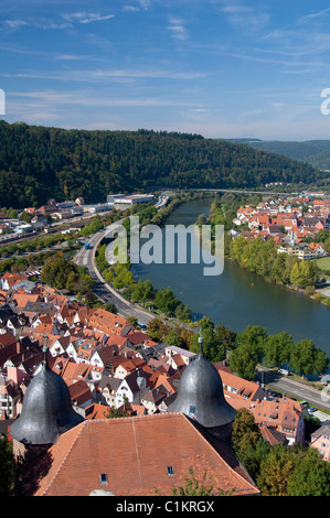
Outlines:
<svg viewBox="0 0 330 518"><path fill-rule="evenodd" d="M164 225L192 225L200 214L209 214L212 199L179 206ZM163 225L163 227L164 227ZM166 248L164 230L162 242ZM190 257L188 255L188 257ZM302 293L269 283L260 276L225 260L223 273L204 276L205 265L135 265L138 279L150 279L156 289L170 288L191 309L195 320L210 316L215 325L243 332L260 325L268 334L286 331L295 342L309 338L330 357L330 309Z"/></svg>

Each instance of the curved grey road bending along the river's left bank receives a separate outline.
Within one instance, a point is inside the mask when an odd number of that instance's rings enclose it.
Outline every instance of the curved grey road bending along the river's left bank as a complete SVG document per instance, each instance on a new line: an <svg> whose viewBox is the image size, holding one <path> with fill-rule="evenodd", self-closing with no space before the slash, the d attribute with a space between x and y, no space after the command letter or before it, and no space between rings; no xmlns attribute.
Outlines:
<svg viewBox="0 0 330 518"><path fill-rule="evenodd" d="M141 324L148 324L153 320L153 315L135 304L130 304L119 293L117 293L100 276L95 265L95 251L98 244L105 237L106 234L114 231L114 229L120 225L121 220L113 223L105 229L94 234L89 237L89 248L86 250L82 248L75 257L77 266L83 266L88 269L89 276L95 280L96 284L93 289L97 298L104 303L113 303L117 307L118 314L124 317L132 316L138 320Z"/></svg>

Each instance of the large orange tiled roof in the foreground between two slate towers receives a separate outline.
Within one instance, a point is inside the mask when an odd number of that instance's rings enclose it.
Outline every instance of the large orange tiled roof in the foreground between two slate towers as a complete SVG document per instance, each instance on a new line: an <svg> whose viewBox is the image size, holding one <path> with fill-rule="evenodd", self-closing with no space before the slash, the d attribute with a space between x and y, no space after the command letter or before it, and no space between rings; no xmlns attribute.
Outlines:
<svg viewBox="0 0 330 518"><path fill-rule="evenodd" d="M33 484L24 487L34 496L87 496L95 489L152 496L156 488L172 495L190 467L199 479L204 472L212 476L215 488L259 493L231 449L181 413L84 421L30 466Z"/></svg>

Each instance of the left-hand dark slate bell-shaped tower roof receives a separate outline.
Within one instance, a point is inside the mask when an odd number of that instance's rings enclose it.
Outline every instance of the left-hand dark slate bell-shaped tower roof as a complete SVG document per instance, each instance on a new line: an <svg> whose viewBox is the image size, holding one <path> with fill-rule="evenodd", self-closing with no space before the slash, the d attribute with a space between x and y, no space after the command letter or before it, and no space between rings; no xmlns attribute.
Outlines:
<svg viewBox="0 0 330 518"><path fill-rule="evenodd" d="M51 444L57 435L84 421L72 408L67 385L47 365L30 381L21 416L10 427L10 434L23 444Z"/></svg>

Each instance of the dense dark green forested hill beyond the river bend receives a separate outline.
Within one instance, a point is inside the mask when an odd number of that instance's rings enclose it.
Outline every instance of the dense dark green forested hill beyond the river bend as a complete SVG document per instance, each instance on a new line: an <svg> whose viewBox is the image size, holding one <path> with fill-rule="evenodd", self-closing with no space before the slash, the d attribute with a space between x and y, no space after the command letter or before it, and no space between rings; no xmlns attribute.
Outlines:
<svg viewBox="0 0 330 518"><path fill-rule="evenodd" d="M159 187L259 187L267 182L308 184L312 166L245 144L198 134L85 131L0 121L0 206L40 206L110 192Z"/></svg>

